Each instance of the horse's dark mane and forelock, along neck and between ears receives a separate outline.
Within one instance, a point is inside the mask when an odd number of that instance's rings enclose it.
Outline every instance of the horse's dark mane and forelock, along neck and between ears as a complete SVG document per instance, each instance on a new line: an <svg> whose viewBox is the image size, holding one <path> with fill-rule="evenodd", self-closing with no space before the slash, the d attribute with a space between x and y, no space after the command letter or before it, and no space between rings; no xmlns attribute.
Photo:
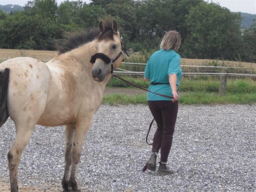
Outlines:
<svg viewBox="0 0 256 192"><path fill-rule="evenodd" d="M101 19L105 29L103 33L100 33L98 28L90 28L87 31L78 34L70 34L68 39L63 43L63 45L58 46L58 55L76 49L77 47L84 45L94 39L103 40L103 39L114 39L113 35L115 34L112 29L113 19L105 18Z"/></svg>

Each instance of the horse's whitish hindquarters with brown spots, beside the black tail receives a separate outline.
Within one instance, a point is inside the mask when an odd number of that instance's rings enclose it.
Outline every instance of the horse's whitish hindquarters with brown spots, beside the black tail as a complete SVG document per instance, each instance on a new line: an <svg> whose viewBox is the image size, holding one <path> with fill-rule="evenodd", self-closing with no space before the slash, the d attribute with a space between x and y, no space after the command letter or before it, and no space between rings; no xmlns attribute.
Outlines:
<svg viewBox="0 0 256 192"><path fill-rule="evenodd" d="M15 123L34 123L44 111L51 73L37 59L17 57L1 63L9 68L7 109Z"/></svg>

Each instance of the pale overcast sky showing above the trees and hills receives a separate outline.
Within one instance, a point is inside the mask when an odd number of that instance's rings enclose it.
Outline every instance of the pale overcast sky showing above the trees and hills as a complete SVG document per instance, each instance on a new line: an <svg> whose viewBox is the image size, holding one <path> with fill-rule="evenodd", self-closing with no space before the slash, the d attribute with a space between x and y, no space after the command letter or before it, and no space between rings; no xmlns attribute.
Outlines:
<svg viewBox="0 0 256 192"><path fill-rule="evenodd" d="M0 0L1 5L18 4L24 6L28 0ZM57 0L58 4L65 0ZM90 0L83 0L90 2ZM207 0L205 0L207 1ZM256 14L256 0L212 0L220 6L227 7L232 12ZM211 0L209 0L211 2Z"/></svg>

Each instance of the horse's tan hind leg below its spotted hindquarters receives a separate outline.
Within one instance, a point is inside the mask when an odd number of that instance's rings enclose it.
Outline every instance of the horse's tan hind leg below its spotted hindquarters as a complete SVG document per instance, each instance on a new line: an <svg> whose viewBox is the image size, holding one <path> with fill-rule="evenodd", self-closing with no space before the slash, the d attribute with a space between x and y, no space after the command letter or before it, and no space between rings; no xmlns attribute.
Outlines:
<svg viewBox="0 0 256 192"><path fill-rule="evenodd" d="M36 126L36 124L34 125ZM21 154L27 146L34 126L23 127L16 126L16 137L13 145L8 152L8 167L10 173L11 192L18 192L18 166L20 163Z"/></svg>

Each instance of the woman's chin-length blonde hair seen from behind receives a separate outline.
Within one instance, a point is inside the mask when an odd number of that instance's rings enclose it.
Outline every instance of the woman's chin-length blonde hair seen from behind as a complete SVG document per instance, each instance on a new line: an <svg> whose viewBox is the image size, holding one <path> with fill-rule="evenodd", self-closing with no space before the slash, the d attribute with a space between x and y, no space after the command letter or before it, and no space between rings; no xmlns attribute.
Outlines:
<svg viewBox="0 0 256 192"><path fill-rule="evenodd" d="M181 37L177 31L168 31L160 44L160 48L164 50L173 49L177 51L180 48Z"/></svg>

